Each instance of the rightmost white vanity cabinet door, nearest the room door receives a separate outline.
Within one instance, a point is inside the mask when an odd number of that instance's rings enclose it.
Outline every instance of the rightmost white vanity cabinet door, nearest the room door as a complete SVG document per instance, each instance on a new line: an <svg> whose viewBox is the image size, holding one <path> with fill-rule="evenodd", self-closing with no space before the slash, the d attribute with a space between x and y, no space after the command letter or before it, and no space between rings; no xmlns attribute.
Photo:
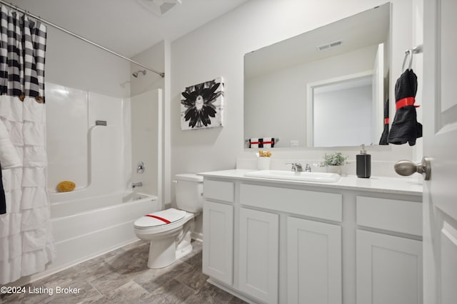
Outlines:
<svg viewBox="0 0 457 304"><path fill-rule="evenodd" d="M356 231L358 304L422 303L422 242Z"/></svg>

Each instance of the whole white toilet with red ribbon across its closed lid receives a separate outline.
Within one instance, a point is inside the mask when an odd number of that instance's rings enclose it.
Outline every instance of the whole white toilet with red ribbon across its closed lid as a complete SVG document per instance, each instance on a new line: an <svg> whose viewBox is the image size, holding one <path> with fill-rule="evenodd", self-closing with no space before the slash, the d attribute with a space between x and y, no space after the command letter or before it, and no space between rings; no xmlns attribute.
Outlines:
<svg viewBox="0 0 457 304"><path fill-rule="evenodd" d="M164 268L192 251L194 218L203 210L203 177L176 174L176 205L146 214L134 223L139 239L150 241L149 268Z"/></svg>

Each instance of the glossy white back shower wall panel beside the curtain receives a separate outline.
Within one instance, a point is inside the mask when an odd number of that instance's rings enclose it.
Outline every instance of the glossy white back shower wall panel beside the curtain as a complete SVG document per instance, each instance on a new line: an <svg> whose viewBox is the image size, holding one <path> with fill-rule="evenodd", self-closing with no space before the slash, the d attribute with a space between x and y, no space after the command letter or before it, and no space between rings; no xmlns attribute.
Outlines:
<svg viewBox="0 0 457 304"><path fill-rule="evenodd" d="M51 196L64 180L88 196L122 192L126 100L53 83L46 83L46 98ZM106 127L96 120L106 120Z"/></svg>

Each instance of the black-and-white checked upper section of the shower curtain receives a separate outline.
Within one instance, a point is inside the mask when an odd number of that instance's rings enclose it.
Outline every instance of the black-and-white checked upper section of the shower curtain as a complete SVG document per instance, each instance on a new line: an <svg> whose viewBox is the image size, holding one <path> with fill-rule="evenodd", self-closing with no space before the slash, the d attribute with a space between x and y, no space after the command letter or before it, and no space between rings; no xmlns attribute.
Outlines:
<svg viewBox="0 0 457 304"><path fill-rule="evenodd" d="M46 26L1 6L1 95L44 102Z"/></svg>

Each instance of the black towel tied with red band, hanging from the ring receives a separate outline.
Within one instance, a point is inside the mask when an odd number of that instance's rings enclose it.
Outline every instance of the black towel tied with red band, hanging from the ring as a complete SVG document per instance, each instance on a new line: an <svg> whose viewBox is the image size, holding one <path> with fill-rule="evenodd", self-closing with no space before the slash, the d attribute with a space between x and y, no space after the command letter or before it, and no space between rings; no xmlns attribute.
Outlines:
<svg viewBox="0 0 457 304"><path fill-rule="evenodd" d="M403 145L408 142L410 146L416 145L416 139L422 137L422 125L417 122L417 76L413 70L408 69L395 84L395 117L388 135L388 143Z"/></svg>

